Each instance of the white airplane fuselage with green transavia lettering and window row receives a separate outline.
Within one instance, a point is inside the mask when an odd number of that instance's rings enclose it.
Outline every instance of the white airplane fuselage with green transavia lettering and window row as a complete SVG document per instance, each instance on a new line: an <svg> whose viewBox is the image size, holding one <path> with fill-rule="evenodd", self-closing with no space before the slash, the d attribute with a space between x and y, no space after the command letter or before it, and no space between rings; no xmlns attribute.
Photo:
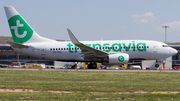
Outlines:
<svg viewBox="0 0 180 101"><path fill-rule="evenodd" d="M177 51L166 44L157 41L147 40L113 40L113 41L81 41L95 49L112 53L126 53L129 60L157 60L170 57ZM59 61L92 61L83 58L81 49L69 42L37 42L27 43L29 48L15 48L15 51L21 52L33 57Z"/></svg>

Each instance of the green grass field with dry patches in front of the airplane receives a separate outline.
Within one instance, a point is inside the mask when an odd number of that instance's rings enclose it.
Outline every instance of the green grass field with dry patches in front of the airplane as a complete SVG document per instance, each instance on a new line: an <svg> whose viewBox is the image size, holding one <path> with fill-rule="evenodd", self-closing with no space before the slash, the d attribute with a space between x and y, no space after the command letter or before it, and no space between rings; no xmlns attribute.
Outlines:
<svg viewBox="0 0 180 101"><path fill-rule="evenodd" d="M0 70L0 100L180 100L180 73ZM25 90L37 92L26 92ZM70 93L54 93L66 91ZM135 93L143 91L145 93Z"/></svg>

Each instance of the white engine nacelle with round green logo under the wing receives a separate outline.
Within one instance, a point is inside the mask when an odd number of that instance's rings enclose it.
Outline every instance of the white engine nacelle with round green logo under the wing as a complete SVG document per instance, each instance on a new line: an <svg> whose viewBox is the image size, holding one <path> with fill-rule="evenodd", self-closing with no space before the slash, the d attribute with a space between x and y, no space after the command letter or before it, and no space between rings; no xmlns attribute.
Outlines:
<svg viewBox="0 0 180 101"><path fill-rule="evenodd" d="M126 64L129 61L129 55L126 53L110 54L108 56L108 62L104 62L104 65L118 65Z"/></svg>

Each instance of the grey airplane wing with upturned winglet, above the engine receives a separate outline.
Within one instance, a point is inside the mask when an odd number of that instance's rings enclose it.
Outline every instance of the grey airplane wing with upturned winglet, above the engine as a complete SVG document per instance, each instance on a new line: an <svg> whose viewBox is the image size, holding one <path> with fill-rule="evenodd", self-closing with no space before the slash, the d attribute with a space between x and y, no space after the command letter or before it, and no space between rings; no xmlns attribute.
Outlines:
<svg viewBox="0 0 180 101"><path fill-rule="evenodd" d="M106 52L94 49L79 42L70 29L67 29L67 31L69 33L69 37L71 38L72 43L82 50L82 53L80 54L83 55L84 59L104 59L106 56L108 56L108 53Z"/></svg>

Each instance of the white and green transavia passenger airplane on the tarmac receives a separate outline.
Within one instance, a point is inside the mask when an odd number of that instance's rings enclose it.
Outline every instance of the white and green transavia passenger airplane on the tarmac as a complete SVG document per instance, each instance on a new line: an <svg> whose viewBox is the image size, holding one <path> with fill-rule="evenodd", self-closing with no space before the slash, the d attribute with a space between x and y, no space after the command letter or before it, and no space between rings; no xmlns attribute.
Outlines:
<svg viewBox="0 0 180 101"><path fill-rule="evenodd" d="M4 6L14 42L8 42L16 52L54 61L95 62L103 65L126 64L131 60L157 60L173 56L177 50L167 44L150 40L78 41L67 29L71 41L60 42L38 35L12 7Z"/></svg>

